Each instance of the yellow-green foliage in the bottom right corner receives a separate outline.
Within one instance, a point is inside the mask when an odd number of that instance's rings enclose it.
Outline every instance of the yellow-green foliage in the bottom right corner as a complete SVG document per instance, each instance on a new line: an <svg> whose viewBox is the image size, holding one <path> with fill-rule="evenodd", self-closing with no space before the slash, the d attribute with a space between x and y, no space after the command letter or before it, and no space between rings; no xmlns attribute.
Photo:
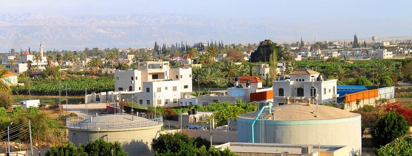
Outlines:
<svg viewBox="0 0 412 156"><path fill-rule="evenodd" d="M376 154L378 156L412 156L412 136L395 139L376 149Z"/></svg>

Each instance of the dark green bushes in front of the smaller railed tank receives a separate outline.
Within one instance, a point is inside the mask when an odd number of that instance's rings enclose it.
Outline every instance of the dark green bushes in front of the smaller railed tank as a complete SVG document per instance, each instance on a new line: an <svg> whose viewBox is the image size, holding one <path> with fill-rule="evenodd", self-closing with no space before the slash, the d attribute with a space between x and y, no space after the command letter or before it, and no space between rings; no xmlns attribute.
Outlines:
<svg viewBox="0 0 412 156"><path fill-rule="evenodd" d="M105 142L103 139L90 140L87 145L76 147L69 142L63 146L53 146L46 151L46 156L128 156L118 141Z"/></svg>

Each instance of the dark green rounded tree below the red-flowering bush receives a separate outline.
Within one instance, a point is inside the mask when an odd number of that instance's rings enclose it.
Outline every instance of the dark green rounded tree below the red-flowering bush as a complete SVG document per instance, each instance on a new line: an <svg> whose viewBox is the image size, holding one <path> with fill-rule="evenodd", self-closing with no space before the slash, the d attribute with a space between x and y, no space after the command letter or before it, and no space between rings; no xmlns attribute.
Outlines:
<svg viewBox="0 0 412 156"><path fill-rule="evenodd" d="M371 131L373 146L379 148L390 143L393 139L403 137L409 132L405 117L392 111L387 112L373 126Z"/></svg>

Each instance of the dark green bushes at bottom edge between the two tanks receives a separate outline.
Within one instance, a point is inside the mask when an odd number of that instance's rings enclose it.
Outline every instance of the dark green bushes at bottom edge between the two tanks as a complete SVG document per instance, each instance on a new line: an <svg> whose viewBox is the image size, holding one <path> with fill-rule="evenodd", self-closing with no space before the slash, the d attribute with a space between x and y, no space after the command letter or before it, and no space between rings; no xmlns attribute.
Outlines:
<svg viewBox="0 0 412 156"><path fill-rule="evenodd" d="M183 133L160 134L153 139L155 156L236 156L229 149L210 149L206 139L190 138Z"/></svg>

